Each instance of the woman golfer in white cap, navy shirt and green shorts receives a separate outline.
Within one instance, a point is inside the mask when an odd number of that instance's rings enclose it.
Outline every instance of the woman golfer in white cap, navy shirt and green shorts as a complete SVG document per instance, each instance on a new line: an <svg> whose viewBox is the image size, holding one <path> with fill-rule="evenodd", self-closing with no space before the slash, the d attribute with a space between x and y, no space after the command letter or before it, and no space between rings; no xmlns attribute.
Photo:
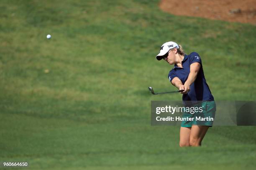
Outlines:
<svg viewBox="0 0 256 170"><path fill-rule="evenodd" d="M170 65L174 64L168 78L172 85L184 90L181 92L184 106L201 108L193 114L183 113L182 118L186 119L181 123L179 146L200 146L208 128L212 127L216 107L205 80L199 54L192 52L186 55L182 46L169 41L161 46L156 59L164 59Z"/></svg>

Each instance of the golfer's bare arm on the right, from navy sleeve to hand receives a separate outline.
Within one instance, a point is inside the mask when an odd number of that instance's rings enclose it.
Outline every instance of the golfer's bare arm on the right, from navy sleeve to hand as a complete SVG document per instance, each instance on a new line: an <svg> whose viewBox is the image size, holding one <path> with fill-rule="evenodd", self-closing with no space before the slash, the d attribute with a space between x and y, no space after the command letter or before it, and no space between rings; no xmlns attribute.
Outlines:
<svg viewBox="0 0 256 170"><path fill-rule="evenodd" d="M187 81L184 83L184 91L183 94L187 94L190 90L190 85L195 81L195 79L197 79L197 74L200 70L201 64L196 62L196 63L192 63L190 64L190 73L189 76L187 78Z"/></svg>

